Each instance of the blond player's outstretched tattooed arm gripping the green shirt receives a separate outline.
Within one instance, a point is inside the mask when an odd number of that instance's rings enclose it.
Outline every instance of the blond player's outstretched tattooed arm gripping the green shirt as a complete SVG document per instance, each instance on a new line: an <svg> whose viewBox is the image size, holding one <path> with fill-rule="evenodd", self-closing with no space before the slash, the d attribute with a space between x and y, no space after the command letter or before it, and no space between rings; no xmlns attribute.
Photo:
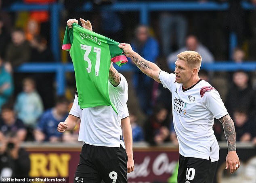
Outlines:
<svg viewBox="0 0 256 183"><path fill-rule="evenodd" d="M119 45L119 48L122 48L124 50L124 53L126 54L126 56L132 59L132 61L134 62L134 64L136 64L138 69L140 69L143 73L145 73L149 77L153 78L158 83L161 83L161 81L159 80L159 73L161 69L156 64L145 60L138 53L134 52L130 44L121 43Z"/></svg>

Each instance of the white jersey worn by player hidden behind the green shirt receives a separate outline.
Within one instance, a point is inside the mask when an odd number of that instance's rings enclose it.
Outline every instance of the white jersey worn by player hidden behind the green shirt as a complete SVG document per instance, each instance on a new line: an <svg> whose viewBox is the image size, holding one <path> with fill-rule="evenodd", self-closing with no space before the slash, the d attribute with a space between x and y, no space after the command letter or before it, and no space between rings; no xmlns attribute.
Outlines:
<svg viewBox="0 0 256 183"><path fill-rule="evenodd" d="M118 114L111 106L97 106L80 109L78 97L75 96L69 114L80 117L78 140L93 146L124 147L122 140L121 119L129 116L126 102L128 100L128 83L120 74L120 84L114 87L108 81L109 96Z"/></svg>

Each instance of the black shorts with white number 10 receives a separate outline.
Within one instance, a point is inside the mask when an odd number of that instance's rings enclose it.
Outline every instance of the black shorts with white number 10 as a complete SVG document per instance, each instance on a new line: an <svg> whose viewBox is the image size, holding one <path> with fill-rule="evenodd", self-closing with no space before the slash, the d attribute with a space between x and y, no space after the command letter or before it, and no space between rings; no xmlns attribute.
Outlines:
<svg viewBox="0 0 256 183"><path fill-rule="evenodd" d="M212 183L218 161L211 162L200 158L187 158L180 155L178 183Z"/></svg>

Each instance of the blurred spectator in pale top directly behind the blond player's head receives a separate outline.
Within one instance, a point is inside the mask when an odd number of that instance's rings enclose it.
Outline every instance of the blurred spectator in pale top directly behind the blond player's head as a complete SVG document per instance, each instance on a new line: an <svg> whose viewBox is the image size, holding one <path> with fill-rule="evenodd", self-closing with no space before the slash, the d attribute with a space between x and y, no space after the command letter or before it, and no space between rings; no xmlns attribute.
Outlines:
<svg viewBox="0 0 256 183"><path fill-rule="evenodd" d="M169 54L169 56L167 57L168 63L176 62L177 54L187 50L192 50L201 54L202 64L214 62L214 56L212 55L212 53L204 45L198 42L197 37L195 37L194 35L189 35L186 39L185 47L180 48L176 52Z"/></svg>

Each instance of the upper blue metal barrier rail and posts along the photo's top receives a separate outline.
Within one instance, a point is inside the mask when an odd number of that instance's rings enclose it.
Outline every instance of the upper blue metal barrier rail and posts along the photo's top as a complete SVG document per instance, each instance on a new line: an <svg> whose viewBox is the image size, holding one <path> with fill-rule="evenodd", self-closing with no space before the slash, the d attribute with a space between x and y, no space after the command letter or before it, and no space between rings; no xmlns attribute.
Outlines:
<svg viewBox="0 0 256 183"><path fill-rule="evenodd" d="M247 1L241 2L242 7L245 10L254 10L256 6L252 5ZM152 11L224 11L228 10L229 3L228 2L171 2L171 1L137 1L137 2L115 2L111 5L101 6L103 10L109 11L138 11L139 13L139 21L142 24L149 24L150 20L150 12ZM52 52L55 53L55 60L61 61L60 57L60 40L59 40L59 17L61 10L64 9L63 4L61 3L53 3L53 4L23 4L23 3L14 3L10 7L6 8L8 11L21 11L21 10L49 10L50 11L50 45ZM92 11L93 5L92 2L85 2L83 6L78 8L80 11ZM230 35L230 46L229 52L231 53L233 48L235 48L237 41L236 35L231 33Z"/></svg>

